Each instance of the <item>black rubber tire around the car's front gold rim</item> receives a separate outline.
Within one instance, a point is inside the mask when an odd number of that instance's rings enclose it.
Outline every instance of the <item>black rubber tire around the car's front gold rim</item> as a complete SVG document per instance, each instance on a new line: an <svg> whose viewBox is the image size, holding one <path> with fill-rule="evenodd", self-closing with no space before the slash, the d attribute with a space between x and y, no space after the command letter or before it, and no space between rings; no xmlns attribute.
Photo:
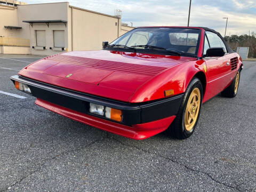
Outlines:
<svg viewBox="0 0 256 192"><path fill-rule="evenodd" d="M195 124L193 126L192 129L190 129L189 131L186 129L185 127L185 112L186 112L186 108L187 108L187 104L188 104L188 100L190 97L190 94L196 89L198 88L200 91L200 104L199 104L199 111L198 111L198 115L197 115L197 119L195 120ZM193 132L195 131L195 127L197 125L200 113L201 113L201 108L202 108L202 100L203 100L203 85L201 83L201 81L194 77L191 82L189 83L187 90L184 94L183 100L181 102L178 114L176 116L176 118L174 119L173 123L171 124L171 127L169 128L172 135L175 138L178 139L186 139L188 137L190 137Z"/></svg>

